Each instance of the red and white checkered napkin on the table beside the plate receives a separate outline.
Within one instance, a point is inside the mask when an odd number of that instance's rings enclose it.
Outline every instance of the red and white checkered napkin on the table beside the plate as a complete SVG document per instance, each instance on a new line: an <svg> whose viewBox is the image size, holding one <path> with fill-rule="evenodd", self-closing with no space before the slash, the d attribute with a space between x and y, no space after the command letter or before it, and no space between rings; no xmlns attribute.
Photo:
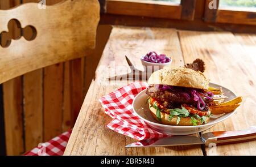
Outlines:
<svg viewBox="0 0 256 167"><path fill-rule="evenodd" d="M107 125L109 129L137 140L168 136L151 129L133 112L132 103L135 96L146 87L147 83L135 82L100 98L105 113L113 118Z"/></svg>

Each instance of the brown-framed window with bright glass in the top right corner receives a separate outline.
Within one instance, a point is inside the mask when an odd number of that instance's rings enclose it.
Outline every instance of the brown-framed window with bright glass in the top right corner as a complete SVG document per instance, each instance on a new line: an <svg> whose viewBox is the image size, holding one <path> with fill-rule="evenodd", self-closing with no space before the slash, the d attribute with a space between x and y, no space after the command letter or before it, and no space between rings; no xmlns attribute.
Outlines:
<svg viewBox="0 0 256 167"><path fill-rule="evenodd" d="M216 3L216 8L209 7ZM205 21L256 25L255 0L207 0Z"/></svg>

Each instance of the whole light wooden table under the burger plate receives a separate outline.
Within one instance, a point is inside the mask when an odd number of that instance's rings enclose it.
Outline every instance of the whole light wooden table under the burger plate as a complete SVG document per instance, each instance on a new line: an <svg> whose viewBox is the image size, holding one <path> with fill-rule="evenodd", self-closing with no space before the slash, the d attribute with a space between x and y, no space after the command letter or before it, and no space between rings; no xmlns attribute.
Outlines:
<svg viewBox="0 0 256 167"><path fill-rule="evenodd" d="M184 66L196 58L206 63L205 75L213 83L243 96L236 114L208 131L242 130L256 125L256 35L231 32L177 31L164 28L114 27L82 105L64 155L256 155L256 141L218 146L201 145L156 148L125 148L135 140L109 130L111 118L98 99L126 85L109 85L105 78L125 74L127 55L142 69L139 57L155 50L170 55L172 66ZM123 68L117 66L123 66ZM115 68L115 73L110 71ZM199 136L200 134L195 134Z"/></svg>

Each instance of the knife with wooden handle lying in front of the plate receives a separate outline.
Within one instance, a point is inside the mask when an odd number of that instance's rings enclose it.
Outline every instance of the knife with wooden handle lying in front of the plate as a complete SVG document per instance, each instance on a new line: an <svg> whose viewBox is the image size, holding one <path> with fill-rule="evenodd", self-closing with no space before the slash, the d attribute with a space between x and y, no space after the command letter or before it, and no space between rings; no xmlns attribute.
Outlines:
<svg viewBox="0 0 256 167"><path fill-rule="evenodd" d="M214 131L197 136L172 136L160 139L147 139L126 145L129 147L165 147L174 145L205 144L207 147L212 143L216 145L249 142L256 140L256 126L241 131Z"/></svg>

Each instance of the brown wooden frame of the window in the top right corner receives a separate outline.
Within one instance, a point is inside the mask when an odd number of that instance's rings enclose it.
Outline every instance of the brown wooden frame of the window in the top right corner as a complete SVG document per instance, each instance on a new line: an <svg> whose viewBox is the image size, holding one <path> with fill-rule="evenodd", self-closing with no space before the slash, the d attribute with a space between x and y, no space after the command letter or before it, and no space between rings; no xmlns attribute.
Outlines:
<svg viewBox="0 0 256 167"><path fill-rule="evenodd" d="M235 7L219 7L220 0L215 0L216 9L210 9L209 3L212 1L207 0L205 3L205 22L256 25L256 12Z"/></svg>

